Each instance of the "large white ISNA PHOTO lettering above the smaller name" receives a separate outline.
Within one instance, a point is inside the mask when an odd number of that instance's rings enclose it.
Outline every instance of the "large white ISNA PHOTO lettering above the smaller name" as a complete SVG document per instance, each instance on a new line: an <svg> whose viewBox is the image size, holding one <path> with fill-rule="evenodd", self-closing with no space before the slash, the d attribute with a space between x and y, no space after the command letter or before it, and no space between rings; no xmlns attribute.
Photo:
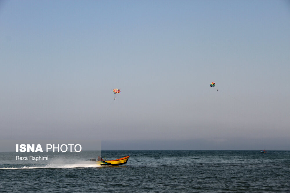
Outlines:
<svg viewBox="0 0 290 193"><path fill-rule="evenodd" d="M70 148L68 147L70 146ZM74 146L74 148L72 148ZM79 146L79 148L77 148ZM74 151L72 150L74 149ZM77 150L79 149L79 150ZM81 151L81 145L80 144L62 144L62 145L55 145L55 144L46 144L46 152L48 150L53 150L53 152L80 152ZM37 144L35 147L35 144L16 144L16 152L43 152L42 147L40 144Z"/></svg>

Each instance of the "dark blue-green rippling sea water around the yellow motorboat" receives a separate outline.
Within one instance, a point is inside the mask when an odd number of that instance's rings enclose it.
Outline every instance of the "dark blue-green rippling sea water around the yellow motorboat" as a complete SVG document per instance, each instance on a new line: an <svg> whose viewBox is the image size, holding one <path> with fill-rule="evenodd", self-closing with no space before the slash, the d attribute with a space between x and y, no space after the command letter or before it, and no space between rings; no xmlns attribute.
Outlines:
<svg viewBox="0 0 290 193"><path fill-rule="evenodd" d="M75 164L72 153L55 165L7 164L13 153L0 152L0 192L290 192L289 151L102 151L107 160L130 155L110 167Z"/></svg>

